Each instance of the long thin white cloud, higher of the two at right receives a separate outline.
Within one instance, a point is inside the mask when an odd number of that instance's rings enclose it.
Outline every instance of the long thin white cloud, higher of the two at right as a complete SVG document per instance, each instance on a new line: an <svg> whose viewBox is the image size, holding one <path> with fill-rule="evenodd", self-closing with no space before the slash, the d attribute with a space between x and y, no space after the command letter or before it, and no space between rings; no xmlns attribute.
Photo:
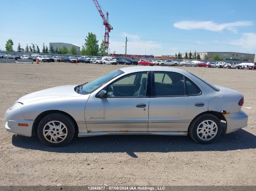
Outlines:
<svg viewBox="0 0 256 191"><path fill-rule="evenodd" d="M192 29L204 29L214 32L221 32L224 29L231 30L236 33L236 27L251 26L252 21L236 21L233 23L215 23L213 21L180 21L174 24L174 27L178 29L192 30Z"/></svg>

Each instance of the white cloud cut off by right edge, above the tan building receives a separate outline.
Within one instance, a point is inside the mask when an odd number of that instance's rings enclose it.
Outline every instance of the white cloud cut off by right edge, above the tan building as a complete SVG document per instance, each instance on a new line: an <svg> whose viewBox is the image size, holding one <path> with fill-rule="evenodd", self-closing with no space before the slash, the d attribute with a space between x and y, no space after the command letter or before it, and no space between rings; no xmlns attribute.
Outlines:
<svg viewBox="0 0 256 191"><path fill-rule="evenodd" d="M242 46L245 49L256 49L256 33L243 33L240 39L234 40L230 44Z"/></svg>

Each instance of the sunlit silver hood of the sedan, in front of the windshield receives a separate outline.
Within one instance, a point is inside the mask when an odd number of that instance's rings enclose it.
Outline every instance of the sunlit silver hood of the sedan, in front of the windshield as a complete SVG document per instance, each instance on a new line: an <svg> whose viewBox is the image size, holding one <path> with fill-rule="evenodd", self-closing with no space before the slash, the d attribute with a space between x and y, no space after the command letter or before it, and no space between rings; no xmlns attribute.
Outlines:
<svg viewBox="0 0 256 191"><path fill-rule="evenodd" d="M18 100L18 102L21 102L24 104L24 103L47 99L47 98L81 96L81 94L78 94L75 92L74 90L75 86L76 85L59 86L55 88L36 91L21 97Z"/></svg>

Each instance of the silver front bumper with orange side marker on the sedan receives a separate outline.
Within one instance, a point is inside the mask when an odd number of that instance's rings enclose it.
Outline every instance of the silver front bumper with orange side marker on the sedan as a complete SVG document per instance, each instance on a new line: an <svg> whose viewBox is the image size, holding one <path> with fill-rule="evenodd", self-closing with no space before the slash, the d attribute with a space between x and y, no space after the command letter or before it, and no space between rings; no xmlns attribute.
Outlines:
<svg viewBox="0 0 256 191"><path fill-rule="evenodd" d="M5 130L18 135L32 136L32 126L34 120L25 120L21 108L8 109L5 113ZM18 126L18 123L26 123L28 126Z"/></svg>

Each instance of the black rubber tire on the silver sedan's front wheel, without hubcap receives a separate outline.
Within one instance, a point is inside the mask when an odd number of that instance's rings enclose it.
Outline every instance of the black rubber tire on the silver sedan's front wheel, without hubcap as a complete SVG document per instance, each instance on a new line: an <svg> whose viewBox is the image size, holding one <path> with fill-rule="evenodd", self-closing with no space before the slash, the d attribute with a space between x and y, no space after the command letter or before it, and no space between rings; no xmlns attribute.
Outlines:
<svg viewBox="0 0 256 191"><path fill-rule="evenodd" d="M67 127L67 136L62 142L52 143L44 137L43 128L50 121L60 121ZM37 135L38 135L40 141L43 142L47 146L62 147L64 145L67 145L74 137L75 124L72 121L72 119L70 119L70 117L68 117L67 115L65 115L63 113L50 113L50 114L46 115L38 124Z"/></svg>

